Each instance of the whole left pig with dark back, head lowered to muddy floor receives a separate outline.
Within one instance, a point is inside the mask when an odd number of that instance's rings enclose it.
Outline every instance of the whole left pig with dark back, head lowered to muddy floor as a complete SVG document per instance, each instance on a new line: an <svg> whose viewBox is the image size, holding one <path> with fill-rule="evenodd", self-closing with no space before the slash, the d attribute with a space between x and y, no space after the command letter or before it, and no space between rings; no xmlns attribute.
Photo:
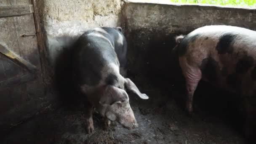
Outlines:
<svg viewBox="0 0 256 144"><path fill-rule="evenodd" d="M74 81L88 101L86 130L94 131L93 107L106 125L117 121L125 128L138 126L126 91L141 99L149 97L125 78L127 43L120 27L97 27L79 37L74 48Z"/></svg>

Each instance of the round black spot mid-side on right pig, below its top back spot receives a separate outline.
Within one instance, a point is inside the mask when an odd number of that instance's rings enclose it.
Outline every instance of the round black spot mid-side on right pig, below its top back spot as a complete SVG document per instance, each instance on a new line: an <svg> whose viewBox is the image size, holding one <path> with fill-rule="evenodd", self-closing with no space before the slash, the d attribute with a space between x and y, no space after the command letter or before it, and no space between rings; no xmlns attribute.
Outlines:
<svg viewBox="0 0 256 144"><path fill-rule="evenodd" d="M239 74L243 74L249 70L250 67L253 66L253 58L251 56L244 56L241 58L236 65L236 72Z"/></svg>

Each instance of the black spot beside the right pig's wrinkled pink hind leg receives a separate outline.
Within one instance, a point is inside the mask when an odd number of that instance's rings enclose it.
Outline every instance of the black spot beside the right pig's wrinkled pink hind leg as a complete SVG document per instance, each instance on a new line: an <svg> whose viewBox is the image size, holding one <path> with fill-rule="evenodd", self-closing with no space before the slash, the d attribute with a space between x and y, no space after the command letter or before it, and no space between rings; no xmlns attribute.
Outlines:
<svg viewBox="0 0 256 144"><path fill-rule="evenodd" d="M200 66L201 72L203 77L206 77L211 82L217 82L219 74L220 74L220 68L217 61L215 61L213 58L205 58L202 61L202 64Z"/></svg>

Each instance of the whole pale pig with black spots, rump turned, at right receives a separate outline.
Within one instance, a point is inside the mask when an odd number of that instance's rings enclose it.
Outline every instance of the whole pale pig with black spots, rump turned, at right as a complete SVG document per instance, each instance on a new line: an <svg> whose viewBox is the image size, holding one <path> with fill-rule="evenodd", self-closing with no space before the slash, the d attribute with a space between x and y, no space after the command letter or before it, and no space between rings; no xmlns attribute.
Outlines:
<svg viewBox="0 0 256 144"><path fill-rule="evenodd" d="M252 138L256 115L256 32L242 27L211 25L176 36L173 52L186 79L186 109L192 113L193 95L202 79L245 100L245 137ZM254 108L253 108L254 107Z"/></svg>

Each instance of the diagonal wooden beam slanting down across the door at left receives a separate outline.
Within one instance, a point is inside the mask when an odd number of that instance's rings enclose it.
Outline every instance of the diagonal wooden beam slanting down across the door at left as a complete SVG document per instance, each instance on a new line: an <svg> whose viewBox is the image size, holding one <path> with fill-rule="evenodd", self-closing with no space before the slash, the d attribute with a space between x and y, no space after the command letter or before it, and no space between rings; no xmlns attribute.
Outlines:
<svg viewBox="0 0 256 144"><path fill-rule="evenodd" d="M26 61L25 59L22 59L20 56L16 55L16 53L13 53L7 47L1 44L0 44L0 53L3 53L3 55L6 56L8 59L18 64L19 66L27 69L30 73L35 74L38 71L35 65L31 64L29 61Z"/></svg>

